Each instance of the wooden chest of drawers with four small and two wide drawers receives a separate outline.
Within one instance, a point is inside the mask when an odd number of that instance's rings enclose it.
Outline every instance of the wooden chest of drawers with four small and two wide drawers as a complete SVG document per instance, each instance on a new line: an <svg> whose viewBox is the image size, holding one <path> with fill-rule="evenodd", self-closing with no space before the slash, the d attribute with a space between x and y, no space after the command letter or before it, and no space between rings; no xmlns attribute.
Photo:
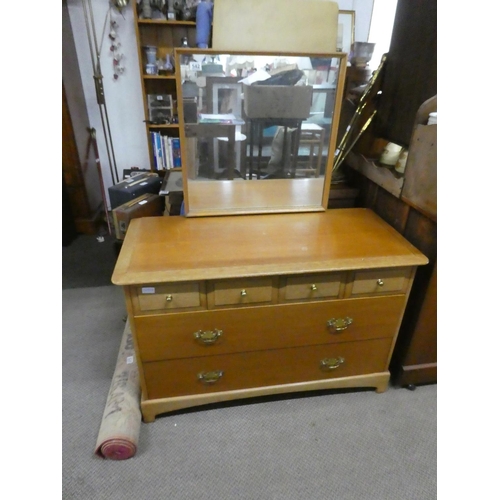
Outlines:
<svg viewBox="0 0 500 500"><path fill-rule="evenodd" d="M239 398L384 391L416 266L368 209L132 220L125 292L144 421Z"/></svg>

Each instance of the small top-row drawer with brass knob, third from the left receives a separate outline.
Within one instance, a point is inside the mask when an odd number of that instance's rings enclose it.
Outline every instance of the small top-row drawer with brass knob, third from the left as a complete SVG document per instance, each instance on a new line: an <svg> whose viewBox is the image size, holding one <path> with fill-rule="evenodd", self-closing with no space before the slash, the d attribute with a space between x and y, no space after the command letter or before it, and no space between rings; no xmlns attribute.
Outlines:
<svg viewBox="0 0 500 500"><path fill-rule="evenodd" d="M284 278L282 301L321 300L340 297L341 273L308 274Z"/></svg>

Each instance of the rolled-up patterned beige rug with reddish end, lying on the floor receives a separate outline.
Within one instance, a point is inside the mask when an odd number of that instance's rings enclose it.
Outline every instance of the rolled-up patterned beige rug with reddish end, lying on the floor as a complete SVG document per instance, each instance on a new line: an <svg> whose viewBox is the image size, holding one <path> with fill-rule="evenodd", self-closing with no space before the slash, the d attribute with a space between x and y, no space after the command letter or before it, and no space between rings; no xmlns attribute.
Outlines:
<svg viewBox="0 0 500 500"><path fill-rule="evenodd" d="M132 331L127 319L97 437L94 451L97 456L125 460L135 455L142 418L140 396Z"/></svg>

